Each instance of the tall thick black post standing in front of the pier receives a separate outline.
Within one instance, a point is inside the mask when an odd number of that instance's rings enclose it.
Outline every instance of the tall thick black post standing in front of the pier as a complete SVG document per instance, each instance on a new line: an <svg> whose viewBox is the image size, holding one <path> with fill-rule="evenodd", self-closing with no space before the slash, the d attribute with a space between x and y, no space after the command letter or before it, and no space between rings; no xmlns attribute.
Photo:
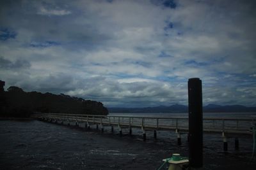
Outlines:
<svg viewBox="0 0 256 170"><path fill-rule="evenodd" d="M189 166L203 166L203 106L202 81L199 78L188 80L189 111Z"/></svg>

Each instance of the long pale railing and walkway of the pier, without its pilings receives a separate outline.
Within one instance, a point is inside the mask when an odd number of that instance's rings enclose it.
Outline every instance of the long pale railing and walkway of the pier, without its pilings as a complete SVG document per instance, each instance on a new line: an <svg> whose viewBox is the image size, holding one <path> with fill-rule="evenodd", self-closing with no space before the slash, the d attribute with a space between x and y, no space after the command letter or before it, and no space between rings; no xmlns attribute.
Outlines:
<svg viewBox="0 0 256 170"><path fill-rule="evenodd" d="M119 128L141 128L143 131L188 131L186 117L128 117L116 115L74 115L63 113L36 113L33 117L61 122L85 123L86 125L118 126ZM252 134L252 118L204 118L204 132Z"/></svg>

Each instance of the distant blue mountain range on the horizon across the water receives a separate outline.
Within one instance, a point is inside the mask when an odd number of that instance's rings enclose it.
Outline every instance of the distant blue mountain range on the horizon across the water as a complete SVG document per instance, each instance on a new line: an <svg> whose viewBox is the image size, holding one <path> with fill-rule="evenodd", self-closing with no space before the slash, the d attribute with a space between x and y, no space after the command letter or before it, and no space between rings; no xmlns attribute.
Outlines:
<svg viewBox="0 0 256 170"><path fill-rule="evenodd" d="M181 113L188 112L188 106L173 104L172 106L157 106L147 108L108 108L109 113ZM208 104L203 107L204 112L253 112L256 107L246 107L242 105L221 106Z"/></svg>

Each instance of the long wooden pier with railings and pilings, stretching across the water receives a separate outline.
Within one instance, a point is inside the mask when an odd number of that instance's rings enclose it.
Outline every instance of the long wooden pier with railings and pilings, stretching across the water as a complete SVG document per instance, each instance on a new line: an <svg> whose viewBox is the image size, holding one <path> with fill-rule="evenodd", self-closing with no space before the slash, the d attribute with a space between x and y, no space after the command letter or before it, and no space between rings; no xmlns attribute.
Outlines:
<svg viewBox="0 0 256 170"><path fill-rule="evenodd" d="M76 125L90 130L92 127L101 129L111 127L111 132L117 128L120 136L123 129L128 129L132 134L132 129L141 129L143 131L143 141L146 141L146 133L154 132L154 139L157 139L157 131L174 131L177 134L177 145L181 145L181 134L188 134L189 118L184 117L128 117L116 115L75 115L63 113L35 113L34 118L46 122L57 124ZM227 152L227 134L236 136L235 149L239 149L239 139L237 136L252 135L252 127L256 123L256 118L203 118L204 132L220 133L223 139L223 150ZM189 138L188 138L189 140Z"/></svg>

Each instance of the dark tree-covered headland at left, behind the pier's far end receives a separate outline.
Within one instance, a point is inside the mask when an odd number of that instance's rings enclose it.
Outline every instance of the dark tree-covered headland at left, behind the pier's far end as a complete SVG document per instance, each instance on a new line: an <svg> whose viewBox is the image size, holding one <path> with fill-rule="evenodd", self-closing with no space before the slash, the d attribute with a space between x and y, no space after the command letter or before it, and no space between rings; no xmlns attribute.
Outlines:
<svg viewBox="0 0 256 170"><path fill-rule="evenodd" d="M29 117L33 112L108 115L102 103L65 94L24 92L19 87L1 90L0 117Z"/></svg>

